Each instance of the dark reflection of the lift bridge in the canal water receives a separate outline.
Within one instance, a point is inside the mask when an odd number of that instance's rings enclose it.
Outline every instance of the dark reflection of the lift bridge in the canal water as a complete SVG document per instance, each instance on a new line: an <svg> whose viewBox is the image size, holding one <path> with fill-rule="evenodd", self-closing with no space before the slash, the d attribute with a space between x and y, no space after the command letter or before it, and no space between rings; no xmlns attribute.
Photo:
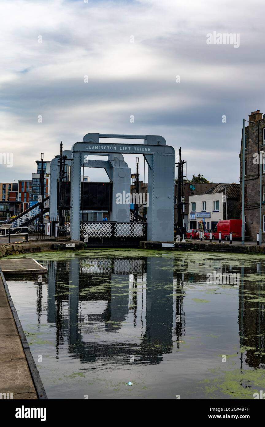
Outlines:
<svg viewBox="0 0 265 427"><path fill-rule="evenodd" d="M133 356L135 363L159 363L172 350L173 335L184 333L183 275L173 277L173 258L73 257L47 264L47 322L56 325L58 353L68 331L69 353L84 362L117 363L121 356L124 363ZM69 293L62 288L67 276ZM102 341L92 338L103 331Z"/></svg>

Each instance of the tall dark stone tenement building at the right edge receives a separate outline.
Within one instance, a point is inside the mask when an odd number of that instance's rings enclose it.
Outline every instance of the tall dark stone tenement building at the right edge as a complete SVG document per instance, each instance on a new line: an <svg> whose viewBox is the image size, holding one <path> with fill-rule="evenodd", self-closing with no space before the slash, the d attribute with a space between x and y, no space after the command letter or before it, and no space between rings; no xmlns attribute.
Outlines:
<svg viewBox="0 0 265 427"><path fill-rule="evenodd" d="M259 164L254 164L253 154L261 150L265 152L265 118L259 110L248 117L253 123L245 127L245 240L256 240L259 232ZM239 157L242 202L242 139ZM265 241L265 164L262 165L262 241Z"/></svg>

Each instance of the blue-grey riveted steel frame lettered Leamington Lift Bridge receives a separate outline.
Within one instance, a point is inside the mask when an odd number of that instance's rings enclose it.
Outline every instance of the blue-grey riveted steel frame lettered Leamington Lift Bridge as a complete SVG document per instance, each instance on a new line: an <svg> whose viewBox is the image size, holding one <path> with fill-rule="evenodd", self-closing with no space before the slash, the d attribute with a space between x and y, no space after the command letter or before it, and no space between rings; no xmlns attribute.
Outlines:
<svg viewBox="0 0 265 427"><path fill-rule="evenodd" d="M106 139L144 140L143 144L101 142ZM149 206L147 208L147 240L173 241L174 228L174 168L175 151L156 135L86 134L82 142L76 142L72 150L63 151L66 164L71 165L71 240L83 237L107 237L110 227L116 237L132 237L141 234L140 223L130 223L130 203L117 203L117 194L130 193L130 168L123 154L143 154L148 165ZM107 155L107 161L88 160L90 155ZM112 181L112 211L109 222L81 222L81 167L104 168ZM58 206L58 158L51 161L50 219L56 220ZM104 234L105 233L105 234ZM143 240L143 239L141 239Z"/></svg>

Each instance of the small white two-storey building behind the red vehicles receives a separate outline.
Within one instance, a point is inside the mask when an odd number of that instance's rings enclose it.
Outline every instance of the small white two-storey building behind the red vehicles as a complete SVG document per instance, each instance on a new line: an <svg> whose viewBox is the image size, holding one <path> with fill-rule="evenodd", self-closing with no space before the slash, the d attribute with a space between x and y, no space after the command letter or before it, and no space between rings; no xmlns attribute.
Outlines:
<svg viewBox="0 0 265 427"><path fill-rule="evenodd" d="M223 219L223 202L223 193L189 196L188 228L199 228L199 221L203 220L205 228L214 230L217 222Z"/></svg>

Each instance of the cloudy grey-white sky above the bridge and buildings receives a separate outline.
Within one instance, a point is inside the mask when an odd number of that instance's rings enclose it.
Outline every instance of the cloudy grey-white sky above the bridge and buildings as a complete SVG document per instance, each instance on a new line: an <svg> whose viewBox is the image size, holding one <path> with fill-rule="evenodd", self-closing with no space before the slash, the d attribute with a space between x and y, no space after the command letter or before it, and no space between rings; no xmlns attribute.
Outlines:
<svg viewBox="0 0 265 427"><path fill-rule="evenodd" d="M265 113L264 9L263 0L2 0L0 153L14 165L0 164L0 181L29 179L40 152L51 160L61 140L70 149L99 132L162 135L181 146L189 178L239 182L242 118ZM239 34L239 47L207 44L213 32ZM134 156L125 160L134 172Z"/></svg>

